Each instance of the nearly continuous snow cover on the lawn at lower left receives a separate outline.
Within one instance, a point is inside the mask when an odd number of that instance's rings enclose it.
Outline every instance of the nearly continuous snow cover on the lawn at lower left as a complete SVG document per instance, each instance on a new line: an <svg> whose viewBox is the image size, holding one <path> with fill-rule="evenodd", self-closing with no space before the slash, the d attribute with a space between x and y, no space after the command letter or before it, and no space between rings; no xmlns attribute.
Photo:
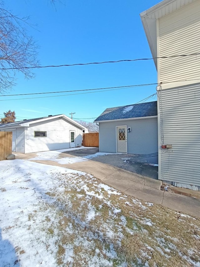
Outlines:
<svg viewBox="0 0 200 267"><path fill-rule="evenodd" d="M49 208L55 199L46 193L59 186L53 179L58 172L69 177L85 173L23 160L1 161L0 169L1 186L6 190L0 194L1 266L56 266L56 239L40 231L41 224L49 228L51 223L58 223ZM53 208L54 212L57 209ZM49 215L51 223L45 221Z"/></svg>

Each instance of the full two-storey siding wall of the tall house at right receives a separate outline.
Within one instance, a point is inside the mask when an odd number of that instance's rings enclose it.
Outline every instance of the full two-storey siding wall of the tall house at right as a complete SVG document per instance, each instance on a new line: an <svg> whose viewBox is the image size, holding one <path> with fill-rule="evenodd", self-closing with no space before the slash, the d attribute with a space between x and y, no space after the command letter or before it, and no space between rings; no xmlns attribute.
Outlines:
<svg viewBox="0 0 200 267"><path fill-rule="evenodd" d="M199 53L199 30L199 1L159 18L158 57ZM200 190L199 65L200 55L158 61L158 83L164 83L158 87L158 178L195 190Z"/></svg>

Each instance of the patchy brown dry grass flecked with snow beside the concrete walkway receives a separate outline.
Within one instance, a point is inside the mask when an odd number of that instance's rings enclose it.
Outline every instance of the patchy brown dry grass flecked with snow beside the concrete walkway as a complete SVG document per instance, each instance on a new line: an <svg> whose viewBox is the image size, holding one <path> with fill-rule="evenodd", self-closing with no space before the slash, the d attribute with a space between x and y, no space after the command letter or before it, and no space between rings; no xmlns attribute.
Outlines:
<svg viewBox="0 0 200 267"><path fill-rule="evenodd" d="M51 212L43 220L48 226L41 230L57 240L58 266L101 262L101 266L174 267L200 261L198 218L157 204L148 206L114 190L108 194L91 177L73 177L70 186L65 181L63 185L62 192L53 188L46 193L57 201L40 210ZM29 221L36 218L37 213L28 215ZM73 255L67 262L69 248Z"/></svg>

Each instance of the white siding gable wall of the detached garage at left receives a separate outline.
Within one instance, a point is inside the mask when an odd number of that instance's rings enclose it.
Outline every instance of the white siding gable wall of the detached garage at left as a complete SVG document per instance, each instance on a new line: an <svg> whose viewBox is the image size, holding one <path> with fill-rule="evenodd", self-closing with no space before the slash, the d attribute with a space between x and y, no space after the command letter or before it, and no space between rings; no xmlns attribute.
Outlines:
<svg viewBox="0 0 200 267"><path fill-rule="evenodd" d="M34 137L34 131L46 131L47 137ZM75 145L81 145L83 131L63 119L30 124L26 127L25 153L69 148L70 131L75 132Z"/></svg>

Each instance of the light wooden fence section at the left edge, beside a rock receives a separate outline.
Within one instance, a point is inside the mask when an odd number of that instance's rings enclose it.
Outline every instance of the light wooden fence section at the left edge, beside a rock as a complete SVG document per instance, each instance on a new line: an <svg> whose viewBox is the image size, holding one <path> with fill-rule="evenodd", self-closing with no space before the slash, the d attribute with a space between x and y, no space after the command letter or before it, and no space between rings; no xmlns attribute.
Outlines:
<svg viewBox="0 0 200 267"><path fill-rule="evenodd" d="M0 132L0 160L12 154L12 132Z"/></svg>

